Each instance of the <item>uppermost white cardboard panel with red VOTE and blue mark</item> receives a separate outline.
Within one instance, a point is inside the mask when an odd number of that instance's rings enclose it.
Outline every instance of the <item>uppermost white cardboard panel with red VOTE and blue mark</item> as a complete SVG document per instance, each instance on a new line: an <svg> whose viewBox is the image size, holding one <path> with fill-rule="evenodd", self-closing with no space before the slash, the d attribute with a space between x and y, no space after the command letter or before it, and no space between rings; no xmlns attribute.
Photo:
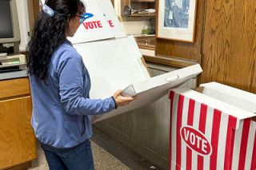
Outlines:
<svg viewBox="0 0 256 170"><path fill-rule="evenodd" d="M114 38L110 23L106 20L99 2L96 0L82 0L82 2L86 5L86 20L79 26L74 37L68 38L70 42L76 44Z"/></svg>

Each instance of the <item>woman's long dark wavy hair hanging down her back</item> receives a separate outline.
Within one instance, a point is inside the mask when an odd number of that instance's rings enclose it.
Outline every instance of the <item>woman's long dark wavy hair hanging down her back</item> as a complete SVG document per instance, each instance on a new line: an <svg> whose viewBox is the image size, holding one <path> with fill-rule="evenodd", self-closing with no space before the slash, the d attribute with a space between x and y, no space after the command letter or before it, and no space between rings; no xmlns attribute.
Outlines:
<svg viewBox="0 0 256 170"><path fill-rule="evenodd" d="M40 11L26 47L28 73L45 82L51 56L66 40L70 18L85 12L85 6L80 0L46 0L46 5L55 11L54 16L49 17Z"/></svg>

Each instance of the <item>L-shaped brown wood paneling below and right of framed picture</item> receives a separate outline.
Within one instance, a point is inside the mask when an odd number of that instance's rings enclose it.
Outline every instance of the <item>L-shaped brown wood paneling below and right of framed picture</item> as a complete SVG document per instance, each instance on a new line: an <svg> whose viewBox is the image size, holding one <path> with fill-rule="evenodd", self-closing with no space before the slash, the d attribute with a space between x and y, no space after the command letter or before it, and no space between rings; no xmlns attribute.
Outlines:
<svg viewBox="0 0 256 170"><path fill-rule="evenodd" d="M156 55L169 58L180 57L184 59L194 60L200 63L202 51L204 4L204 0L198 0L198 10L195 26L195 42L178 42L174 40L157 38Z"/></svg>

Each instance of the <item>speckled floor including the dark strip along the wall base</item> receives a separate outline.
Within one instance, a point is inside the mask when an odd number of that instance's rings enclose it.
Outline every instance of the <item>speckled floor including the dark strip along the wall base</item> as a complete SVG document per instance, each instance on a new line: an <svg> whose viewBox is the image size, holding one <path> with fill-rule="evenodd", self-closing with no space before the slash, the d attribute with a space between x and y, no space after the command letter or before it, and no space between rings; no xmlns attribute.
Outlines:
<svg viewBox="0 0 256 170"><path fill-rule="evenodd" d="M143 156L138 155L133 149L127 148L118 140L113 139L105 132L94 127L94 135L91 138L91 146L94 155L95 170L159 170L160 168L150 164ZM118 159L117 159L118 158ZM28 170L48 170L46 158L38 144L38 159L33 163L33 168Z"/></svg>

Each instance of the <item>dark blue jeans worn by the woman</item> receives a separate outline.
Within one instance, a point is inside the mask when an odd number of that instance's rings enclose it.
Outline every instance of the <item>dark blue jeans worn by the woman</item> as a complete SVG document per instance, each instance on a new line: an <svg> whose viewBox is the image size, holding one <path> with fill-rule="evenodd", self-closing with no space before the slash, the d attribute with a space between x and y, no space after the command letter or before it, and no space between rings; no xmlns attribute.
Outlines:
<svg viewBox="0 0 256 170"><path fill-rule="evenodd" d="M94 170L90 140L73 148L54 148L42 144L50 170Z"/></svg>

